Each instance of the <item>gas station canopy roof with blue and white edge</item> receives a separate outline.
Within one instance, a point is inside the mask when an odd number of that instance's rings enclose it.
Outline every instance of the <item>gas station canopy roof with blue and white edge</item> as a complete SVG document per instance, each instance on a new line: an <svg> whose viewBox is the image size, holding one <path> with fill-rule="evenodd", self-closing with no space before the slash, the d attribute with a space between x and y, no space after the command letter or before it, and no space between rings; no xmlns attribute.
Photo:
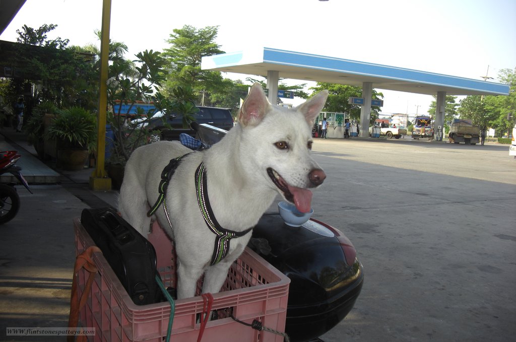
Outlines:
<svg viewBox="0 0 516 342"><path fill-rule="evenodd" d="M345 84L436 95L508 95L509 86L471 78L442 75L349 59L284 51L275 48L226 53L202 58L203 70Z"/></svg>

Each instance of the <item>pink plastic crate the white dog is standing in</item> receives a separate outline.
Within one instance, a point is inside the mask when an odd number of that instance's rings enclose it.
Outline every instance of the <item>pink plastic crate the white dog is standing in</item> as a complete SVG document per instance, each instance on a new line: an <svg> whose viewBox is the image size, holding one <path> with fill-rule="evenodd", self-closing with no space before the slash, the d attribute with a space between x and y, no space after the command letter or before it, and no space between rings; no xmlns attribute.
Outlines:
<svg viewBox="0 0 516 342"><path fill-rule="evenodd" d="M94 243L80 223L74 219L76 252L81 253ZM154 224L149 236L157 254L157 266L165 287L175 285L175 263L168 236ZM163 342L170 316L168 302L136 305L100 253L93 255L99 272L95 275L87 304L80 311L79 324L96 328L90 341L153 341ZM78 273L79 296L89 273ZM256 341L283 342L283 336L257 331L229 317L229 313L246 323L259 320L264 327L285 331L290 280L263 258L246 248L228 272L224 286L214 294L212 310L219 318L208 321L202 342ZM200 282L198 294L200 293ZM197 341L200 324L196 318L203 311L200 296L175 301L171 341Z"/></svg>

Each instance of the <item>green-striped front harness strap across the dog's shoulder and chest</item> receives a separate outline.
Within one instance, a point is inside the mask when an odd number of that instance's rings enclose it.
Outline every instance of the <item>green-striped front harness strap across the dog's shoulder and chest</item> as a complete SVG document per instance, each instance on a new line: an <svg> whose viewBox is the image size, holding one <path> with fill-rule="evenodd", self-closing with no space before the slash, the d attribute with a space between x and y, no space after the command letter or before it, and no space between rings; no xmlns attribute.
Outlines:
<svg viewBox="0 0 516 342"><path fill-rule="evenodd" d="M222 260L229 252L229 243L232 238L242 237L252 231L253 227L246 229L242 232L230 231L224 229L215 219L213 215L212 206L209 204L207 196L208 187L206 181L206 167L201 162L195 173L195 185L197 188L197 201L199 202L199 208L201 209L202 216L209 230L215 235L215 248L213 249L212 261L210 265L215 265Z"/></svg>

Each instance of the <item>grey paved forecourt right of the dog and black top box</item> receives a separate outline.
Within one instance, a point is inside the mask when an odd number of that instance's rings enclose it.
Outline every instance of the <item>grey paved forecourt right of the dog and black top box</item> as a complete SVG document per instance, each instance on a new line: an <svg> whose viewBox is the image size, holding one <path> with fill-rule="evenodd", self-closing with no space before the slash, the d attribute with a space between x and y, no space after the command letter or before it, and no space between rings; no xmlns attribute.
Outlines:
<svg viewBox="0 0 516 342"><path fill-rule="evenodd" d="M314 217L343 231L362 293L326 342L511 341L516 160L508 146L317 140Z"/></svg>

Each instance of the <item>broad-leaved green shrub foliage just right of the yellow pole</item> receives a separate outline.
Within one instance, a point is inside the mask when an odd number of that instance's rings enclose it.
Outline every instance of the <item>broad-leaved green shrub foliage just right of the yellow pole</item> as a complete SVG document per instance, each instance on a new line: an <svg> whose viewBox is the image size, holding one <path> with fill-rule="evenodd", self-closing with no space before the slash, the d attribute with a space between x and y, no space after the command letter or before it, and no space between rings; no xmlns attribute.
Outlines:
<svg viewBox="0 0 516 342"><path fill-rule="evenodd" d="M152 132L142 126L153 118L156 111L165 114L162 117L164 122L171 113L182 115L185 126L194 120L193 113L198 111L191 87L174 87L168 96L158 91L167 75L164 69L166 60L159 52L144 51L136 57L133 61L117 58L109 67L107 97L114 111L108 116L108 122L115 135L111 163L125 164L135 149L149 143ZM137 102L151 101L156 110L145 112L141 107L136 107L137 114L130 114ZM125 112L121 104L127 105ZM134 118L142 120L137 125L130 122Z"/></svg>

